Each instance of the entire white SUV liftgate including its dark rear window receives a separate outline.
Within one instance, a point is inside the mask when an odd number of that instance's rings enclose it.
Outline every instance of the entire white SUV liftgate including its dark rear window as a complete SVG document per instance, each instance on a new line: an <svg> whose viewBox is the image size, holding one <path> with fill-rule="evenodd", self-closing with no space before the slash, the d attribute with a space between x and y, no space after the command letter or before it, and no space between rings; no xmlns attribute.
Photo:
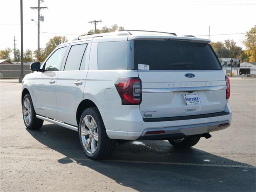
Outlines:
<svg viewBox="0 0 256 192"><path fill-rule="evenodd" d="M135 40L134 68L142 81L142 118L223 112L226 80L207 43Z"/></svg>

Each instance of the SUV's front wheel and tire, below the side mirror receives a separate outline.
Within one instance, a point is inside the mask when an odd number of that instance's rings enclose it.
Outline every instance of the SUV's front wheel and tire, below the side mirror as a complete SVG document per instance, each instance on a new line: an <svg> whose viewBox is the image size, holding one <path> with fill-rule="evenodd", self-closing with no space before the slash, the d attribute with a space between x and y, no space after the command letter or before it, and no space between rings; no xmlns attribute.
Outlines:
<svg viewBox="0 0 256 192"><path fill-rule="evenodd" d="M26 128L31 130L40 129L44 120L36 118L36 112L30 94L26 94L22 101L22 116Z"/></svg>

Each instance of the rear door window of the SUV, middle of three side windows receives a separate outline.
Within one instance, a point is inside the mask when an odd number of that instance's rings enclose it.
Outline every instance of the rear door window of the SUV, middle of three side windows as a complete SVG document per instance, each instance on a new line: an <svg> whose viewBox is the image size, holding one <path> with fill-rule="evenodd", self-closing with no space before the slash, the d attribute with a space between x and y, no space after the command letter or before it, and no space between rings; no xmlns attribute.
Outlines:
<svg viewBox="0 0 256 192"><path fill-rule="evenodd" d="M72 45L68 53L68 58L64 71L75 71L80 69L82 58L87 44Z"/></svg>

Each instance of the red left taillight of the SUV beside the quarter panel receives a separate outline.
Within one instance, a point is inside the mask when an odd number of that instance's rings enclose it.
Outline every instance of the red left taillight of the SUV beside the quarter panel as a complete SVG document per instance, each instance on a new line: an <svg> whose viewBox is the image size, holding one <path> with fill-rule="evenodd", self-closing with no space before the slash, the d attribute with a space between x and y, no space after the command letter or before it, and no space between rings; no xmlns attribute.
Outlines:
<svg viewBox="0 0 256 192"><path fill-rule="evenodd" d="M122 105L138 105L141 103L141 80L138 77L120 77L115 83L121 97Z"/></svg>

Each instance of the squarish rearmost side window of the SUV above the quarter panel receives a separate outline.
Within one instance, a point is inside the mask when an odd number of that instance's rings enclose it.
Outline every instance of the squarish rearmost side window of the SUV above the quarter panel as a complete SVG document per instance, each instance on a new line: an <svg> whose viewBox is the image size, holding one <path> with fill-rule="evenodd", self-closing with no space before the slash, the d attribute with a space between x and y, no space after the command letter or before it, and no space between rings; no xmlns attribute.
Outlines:
<svg viewBox="0 0 256 192"><path fill-rule="evenodd" d="M127 41L98 43L98 70L127 70Z"/></svg>

